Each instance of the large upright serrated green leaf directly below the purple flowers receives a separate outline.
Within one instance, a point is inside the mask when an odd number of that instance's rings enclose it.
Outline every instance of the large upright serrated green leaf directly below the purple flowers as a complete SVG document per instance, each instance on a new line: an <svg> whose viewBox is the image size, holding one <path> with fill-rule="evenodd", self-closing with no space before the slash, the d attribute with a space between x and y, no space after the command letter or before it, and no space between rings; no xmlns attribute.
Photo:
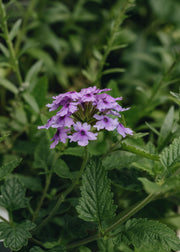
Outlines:
<svg viewBox="0 0 180 252"><path fill-rule="evenodd" d="M112 218L115 210L107 172L98 158L92 158L82 176L81 198L77 206L79 217L100 223Z"/></svg>

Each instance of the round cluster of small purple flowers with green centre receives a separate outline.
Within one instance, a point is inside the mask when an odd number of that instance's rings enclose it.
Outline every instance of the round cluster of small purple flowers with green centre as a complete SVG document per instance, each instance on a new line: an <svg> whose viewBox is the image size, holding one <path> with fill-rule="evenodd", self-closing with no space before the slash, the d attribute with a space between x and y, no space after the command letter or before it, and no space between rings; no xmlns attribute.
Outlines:
<svg viewBox="0 0 180 252"><path fill-rule="evenodd" d="M94 86L84 88L80 92L72 91L54 96L54 101L46 106L49 111L58 109L56 115L52 116L47 124L38 127L57 129L51 139L53 143L50 148L54 148L59 142L66 143L67 139L86 146L89 140L96 140L98 131L103 129L116 129L123 137L126 134L132 135L132 130L125 128L118 120L121 117L120 112L128 108L124 109L117 103L122 97L113 98L103 93L109 90Z"/></svg>

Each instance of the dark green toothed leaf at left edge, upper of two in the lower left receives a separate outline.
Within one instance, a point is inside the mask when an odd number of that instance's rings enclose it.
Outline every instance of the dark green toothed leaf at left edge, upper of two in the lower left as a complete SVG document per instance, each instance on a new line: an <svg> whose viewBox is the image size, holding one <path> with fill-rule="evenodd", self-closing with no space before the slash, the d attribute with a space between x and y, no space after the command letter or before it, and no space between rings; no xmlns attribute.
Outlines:
<svg viewBox="0 0 180 252"><path fill-rule="evenodd" d="M25 188L20 180L11 177L1 186L0 206L7 210L16 210L26 207Z"/></svg>

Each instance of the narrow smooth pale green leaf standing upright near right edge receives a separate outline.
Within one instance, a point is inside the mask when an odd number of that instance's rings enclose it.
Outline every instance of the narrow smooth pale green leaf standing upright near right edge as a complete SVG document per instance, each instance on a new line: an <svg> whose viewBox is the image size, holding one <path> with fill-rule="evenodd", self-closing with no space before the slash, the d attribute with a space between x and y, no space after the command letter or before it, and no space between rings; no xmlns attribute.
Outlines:
<svg viewBox="0 0 180 252"><path fill-rule="evenodd" d="M158 138L158 146L162 147L172 132L172 126L174 121L174 107L171 107L163 121L160 129L160 135Z"/></svg>

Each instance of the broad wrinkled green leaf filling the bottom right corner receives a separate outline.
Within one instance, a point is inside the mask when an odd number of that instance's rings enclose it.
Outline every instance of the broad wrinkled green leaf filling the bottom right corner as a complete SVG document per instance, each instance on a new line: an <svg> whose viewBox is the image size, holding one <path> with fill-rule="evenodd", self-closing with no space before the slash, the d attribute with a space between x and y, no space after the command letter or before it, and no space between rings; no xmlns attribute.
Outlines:
<svg viewBox="0 0 180 252"><path fill-rule="evenodd" d="M132 244L136 251L170 252L180 249L180 239L165 224L154 220L131 219L121 229L115 242Z"/></svg>

